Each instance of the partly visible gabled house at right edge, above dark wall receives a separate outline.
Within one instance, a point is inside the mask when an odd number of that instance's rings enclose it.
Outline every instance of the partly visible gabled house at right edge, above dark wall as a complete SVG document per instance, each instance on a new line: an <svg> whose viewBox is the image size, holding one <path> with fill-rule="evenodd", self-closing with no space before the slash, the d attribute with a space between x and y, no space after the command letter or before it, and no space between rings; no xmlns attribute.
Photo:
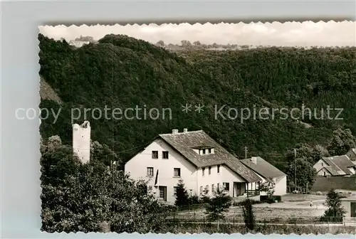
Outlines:
<svg viewBox="0 0 356 239"><path fill-rule="evenodd" d="M341 156L323 157L314 164L313 168L318 176L350 176L355 174L356 161L352 160L349 153Z"/></svg>

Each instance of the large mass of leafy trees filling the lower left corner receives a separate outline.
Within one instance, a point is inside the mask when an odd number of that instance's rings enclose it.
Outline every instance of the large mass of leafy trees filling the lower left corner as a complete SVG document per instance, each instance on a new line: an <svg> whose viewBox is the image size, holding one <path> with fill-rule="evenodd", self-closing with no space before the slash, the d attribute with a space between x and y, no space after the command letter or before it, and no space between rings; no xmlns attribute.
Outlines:
<svg viewBox="0 0 356 239"><path fill-rule="evenodd" d="M76 163L68 146L43 149L42 230L96 232L103 224L117 233L149 233L166 227L167 206L145 190L145 181L129 178L103 160ZM71 164L70 164L71 161ZM61 169L61 170L59 170Z"/></svg>

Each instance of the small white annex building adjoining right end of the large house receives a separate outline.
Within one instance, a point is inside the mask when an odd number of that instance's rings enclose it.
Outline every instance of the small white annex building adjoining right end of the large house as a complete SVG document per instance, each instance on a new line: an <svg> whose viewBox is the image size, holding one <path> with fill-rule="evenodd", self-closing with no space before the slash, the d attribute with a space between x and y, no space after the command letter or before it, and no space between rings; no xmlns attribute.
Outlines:
<svg viewBox="0 0 356 239"><path fill-rule="evenodd" d="M287 175L284 174L283 171L277 169L259 156L251 157L251 159L243 159L241 162L253 170L253 172L261 178L262 183L266 181L274 182L275 188L273 195L282 196L287 193ZM255 189L253 185L251 185L251 189ZM266 193L261 192L261 194Z"/></svg>

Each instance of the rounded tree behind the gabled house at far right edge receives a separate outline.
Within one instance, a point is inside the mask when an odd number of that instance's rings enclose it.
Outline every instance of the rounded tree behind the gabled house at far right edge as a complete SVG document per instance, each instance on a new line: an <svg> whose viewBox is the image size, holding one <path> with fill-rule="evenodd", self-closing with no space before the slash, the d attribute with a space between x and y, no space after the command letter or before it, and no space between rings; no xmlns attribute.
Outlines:
<svg viewBox="0 0 356 239"><path fill-rule="evenodd" d="M356 139L350 129L338 128L333 132L333 139L328 144L328 151L331 155L343 155L350 149L355 148Z"/></svg>

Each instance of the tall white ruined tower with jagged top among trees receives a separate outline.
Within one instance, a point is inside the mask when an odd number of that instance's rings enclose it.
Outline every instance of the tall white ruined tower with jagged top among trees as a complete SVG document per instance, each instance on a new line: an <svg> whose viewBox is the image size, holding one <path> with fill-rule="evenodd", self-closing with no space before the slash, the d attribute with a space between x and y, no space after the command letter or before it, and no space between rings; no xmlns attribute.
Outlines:
<svg viewBox="0 0 356 239"><path fill-rule="evenodd" d="M90 160L90 123L73 124L73 153L83 164Z"/></svg>

